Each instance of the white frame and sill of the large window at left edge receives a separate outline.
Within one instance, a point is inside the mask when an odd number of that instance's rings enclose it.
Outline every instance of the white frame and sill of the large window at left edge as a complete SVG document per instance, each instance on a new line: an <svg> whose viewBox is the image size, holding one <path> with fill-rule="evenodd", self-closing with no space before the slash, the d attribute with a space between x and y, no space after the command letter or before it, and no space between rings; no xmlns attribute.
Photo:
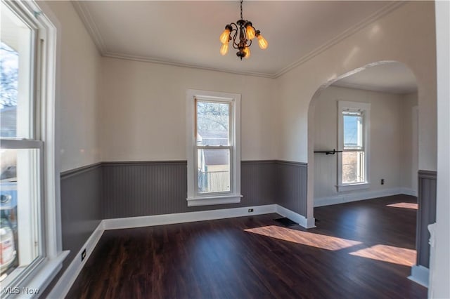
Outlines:
<svg viewBox="0 0 450 299"><path fill-rule="evenodd" d="M13 290L33 288L44 293L44 288L62 268L69 251L62 251L60 222L59 158L56 140L57 119L55 111L58 84L56 61L57 43L60 39L60 24L51 9L39 1L2 1L34 30L32 39L32 95L30 109L34 131L29 139L1 138L1 147L37 148L40 160L41 255L34 260L19 277L8 281L3 289ZM5 281L4 281L5 282ZM2 293L1 297L8 296ZM21 293L21 295L26 295Z"/></svg>

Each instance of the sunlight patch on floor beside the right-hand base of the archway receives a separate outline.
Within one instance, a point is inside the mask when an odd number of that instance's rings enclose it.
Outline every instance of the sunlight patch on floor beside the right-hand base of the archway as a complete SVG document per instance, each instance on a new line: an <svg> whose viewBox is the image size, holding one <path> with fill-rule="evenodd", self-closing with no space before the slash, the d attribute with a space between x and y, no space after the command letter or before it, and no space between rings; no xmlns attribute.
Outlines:
<svg viewBox="0 0 450 299"><path fill-rule="evenodd" d="M416 264L415 250L389 245L378 244L349 254L360 256L361 258L371 258L372 260L380 260L382 262L404 266L412 266Z"/></svg>

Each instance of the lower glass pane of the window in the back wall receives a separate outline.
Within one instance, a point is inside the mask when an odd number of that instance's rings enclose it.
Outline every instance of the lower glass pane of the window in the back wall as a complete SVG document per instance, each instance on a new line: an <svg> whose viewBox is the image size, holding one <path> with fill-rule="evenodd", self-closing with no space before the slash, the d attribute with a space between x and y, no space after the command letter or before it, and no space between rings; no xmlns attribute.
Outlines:
<svg viewBox="0 0 450 299"><path fill-rule="evenodd" d="M198 193L230 191L230 150L198 150Z"/></svg>

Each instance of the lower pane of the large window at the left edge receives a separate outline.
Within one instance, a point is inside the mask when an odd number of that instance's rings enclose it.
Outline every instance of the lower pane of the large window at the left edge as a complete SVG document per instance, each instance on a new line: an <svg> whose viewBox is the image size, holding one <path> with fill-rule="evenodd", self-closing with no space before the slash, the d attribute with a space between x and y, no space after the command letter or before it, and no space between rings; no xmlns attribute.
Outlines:
<svg viewBox="0 0 450 299"><path fill-rule="evenodd" d="M4 281L40 255L39 150L1 150L0 168L0 281Z"/></svg>

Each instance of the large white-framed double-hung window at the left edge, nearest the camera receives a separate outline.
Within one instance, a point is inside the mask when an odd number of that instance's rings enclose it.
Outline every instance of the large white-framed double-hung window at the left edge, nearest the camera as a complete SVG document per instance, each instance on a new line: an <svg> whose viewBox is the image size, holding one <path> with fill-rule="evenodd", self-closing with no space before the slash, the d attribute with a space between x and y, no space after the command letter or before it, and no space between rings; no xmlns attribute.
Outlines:
<svg viewBox="0 0 450 299"><path fill-rule="evenodd" d="M3 298L13 292L39 294L65 255L56 256L56 171L51 147L54 48L50 38L54 27L32 1L1 1L0 5Z"/></svg>

